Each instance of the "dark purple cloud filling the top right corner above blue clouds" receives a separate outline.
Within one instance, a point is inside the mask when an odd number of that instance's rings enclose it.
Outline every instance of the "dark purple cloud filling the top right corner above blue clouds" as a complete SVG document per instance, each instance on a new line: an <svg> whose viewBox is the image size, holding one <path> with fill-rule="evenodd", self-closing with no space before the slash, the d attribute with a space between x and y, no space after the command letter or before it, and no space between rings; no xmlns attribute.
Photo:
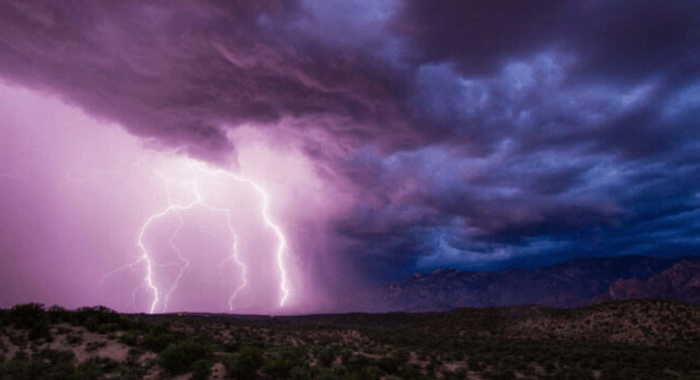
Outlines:
<svg viewBox="0 0 700 380"><path fill-rule="evenodd" d="M415 36L422 62L456 62L461 73L491 75L541 50L581 55L577 74L638 80L650 73L697 72L696 1L408 0L398 29Z"/></svg>

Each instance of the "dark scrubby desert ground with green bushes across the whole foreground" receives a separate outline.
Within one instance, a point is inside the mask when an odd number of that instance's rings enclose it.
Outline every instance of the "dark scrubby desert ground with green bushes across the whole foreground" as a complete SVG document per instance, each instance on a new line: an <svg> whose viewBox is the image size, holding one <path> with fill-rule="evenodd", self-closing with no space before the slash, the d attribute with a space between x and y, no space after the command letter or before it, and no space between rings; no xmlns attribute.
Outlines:
<svg viewBox="0 0 700 380"><path fill-rule="evenodd" d="M700 307L435 314L0 310L0 379L700 379Z"/></svg>

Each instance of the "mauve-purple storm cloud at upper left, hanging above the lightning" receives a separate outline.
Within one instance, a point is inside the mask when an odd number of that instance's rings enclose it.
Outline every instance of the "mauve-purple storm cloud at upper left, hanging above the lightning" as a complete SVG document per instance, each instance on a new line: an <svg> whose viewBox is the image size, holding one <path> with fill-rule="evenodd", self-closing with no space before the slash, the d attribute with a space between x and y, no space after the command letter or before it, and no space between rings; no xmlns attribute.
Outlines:
<svg viewBox="0 0 700 380"><path fill-rule="evenodd" d="M9 1L0 70L209 160L232 150L224 125L310 115L344 124L339 137L376 138L367 125L377 122L391 130L394 101L352 59L309 57L266 27L296 11L279 1Z"/></svg>

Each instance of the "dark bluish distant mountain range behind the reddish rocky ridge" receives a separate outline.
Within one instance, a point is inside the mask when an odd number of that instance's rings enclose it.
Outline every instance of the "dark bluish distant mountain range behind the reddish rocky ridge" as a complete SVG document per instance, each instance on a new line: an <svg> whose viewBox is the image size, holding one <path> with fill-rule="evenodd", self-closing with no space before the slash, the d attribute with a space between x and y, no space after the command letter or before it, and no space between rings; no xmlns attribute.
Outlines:
<svg viewBox="0 0 700 380"><path fill-rule="evenodd" d="M361 311L445 311L458 307L491 307L517 304L541 304L548 307L573 309L591 304L591 300L603 300L605 294L618 280L631 280L635 288L638 283L656 278L661 272L671 269L685 260L680 269L663 280L654 280L652 287L676 289L671 284L685 281L700 267L700 256L678 258L654 258L643 255L626 255L608 258L577 258L551 267L535 269L506 269L498 272L463 272L457 269L438 269L428 274L414 274L409 278L386 286L367 288L356 295L354 304ZM683 269L685 268L685 269ZM685 272L683 272L685 270ZM700 281L699 277L692 281ZM672 279L671 279L672 278ZM636 279L636 280L635 280ZM673 282L675 281L675 282ZM685 282L683 282L685 281ZM627 283L624 283L627 284ZM617 288L615 288L617 289ZM635 288L636 289L636 288ZM644 293L647 288L629 290ZM653 293L660 298L678 293L685 299L696 295L694 288L668 290ZM613 293L617 290L613 290ZM675 293L674 293L675 292ZM680 293L679 293L680 292ZM684 293L685 292L685 293ZM614 293L617 294L617 293ZM626 294L626 293L625 293ZM637 293L633 293L637 294ZM689 298L688 298L689 297ZM614 299L614 298L611 298ZM683 300L685 300L683 299Z"/></svg>

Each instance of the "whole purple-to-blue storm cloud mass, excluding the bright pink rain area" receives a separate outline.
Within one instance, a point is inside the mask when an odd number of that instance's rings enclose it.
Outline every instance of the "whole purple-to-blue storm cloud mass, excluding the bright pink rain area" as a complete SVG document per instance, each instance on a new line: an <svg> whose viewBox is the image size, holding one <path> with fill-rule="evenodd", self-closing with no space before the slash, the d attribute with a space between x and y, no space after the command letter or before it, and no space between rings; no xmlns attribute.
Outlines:
<svg viewBox="0 0 700 380"><path fill-rule="evenodd" d="M346 255L697 246L697 1L5 1L0 25L3 78L155 143L301 131L356 195Z"/></svg>

